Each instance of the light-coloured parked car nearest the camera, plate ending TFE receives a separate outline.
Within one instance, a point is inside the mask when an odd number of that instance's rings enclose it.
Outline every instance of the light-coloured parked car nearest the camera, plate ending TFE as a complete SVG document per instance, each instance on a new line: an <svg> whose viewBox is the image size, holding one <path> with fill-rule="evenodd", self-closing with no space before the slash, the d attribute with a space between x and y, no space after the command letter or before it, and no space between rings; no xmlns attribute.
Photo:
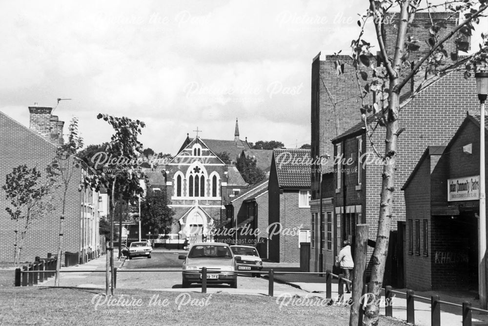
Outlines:
<svg viewBox="0 0 488 326"><path fill-rule="evenodd" d="M215 242L196 243L183 259L182 287L192 283L202 283L202 268L207 268L207 283L229 284L237 288L237 263L229 245Z"/></svg>

